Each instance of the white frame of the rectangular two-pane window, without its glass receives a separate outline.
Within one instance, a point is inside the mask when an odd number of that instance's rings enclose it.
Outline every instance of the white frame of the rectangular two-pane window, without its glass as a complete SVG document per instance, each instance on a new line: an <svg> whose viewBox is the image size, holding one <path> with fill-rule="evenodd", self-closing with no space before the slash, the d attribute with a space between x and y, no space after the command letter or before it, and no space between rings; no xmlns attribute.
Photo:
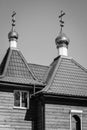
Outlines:
<svg viewBox="0 0 87 130"><path fill-rule="evenodd" d="M20 106L15 106L15 93L19 92L20 93ZM27 93L27 107L23 107L22 106L22 92L26 92ZM18 108L18 109L29 109L29 91L27 90L14 90L14 108Z"/></svg>

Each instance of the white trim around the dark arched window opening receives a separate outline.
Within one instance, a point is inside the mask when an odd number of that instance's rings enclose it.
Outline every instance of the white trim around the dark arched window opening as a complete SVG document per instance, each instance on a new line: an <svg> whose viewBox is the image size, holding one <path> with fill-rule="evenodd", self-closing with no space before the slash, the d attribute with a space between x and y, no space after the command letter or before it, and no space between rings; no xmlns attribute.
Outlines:
<svg viewBox="0 0 87 130"><path fill-rule="evenodd" d="M72 130L72 114L80 114L80 120L81 120L81 130L82 130L82 110L70 110L70 130Z"/></svg>

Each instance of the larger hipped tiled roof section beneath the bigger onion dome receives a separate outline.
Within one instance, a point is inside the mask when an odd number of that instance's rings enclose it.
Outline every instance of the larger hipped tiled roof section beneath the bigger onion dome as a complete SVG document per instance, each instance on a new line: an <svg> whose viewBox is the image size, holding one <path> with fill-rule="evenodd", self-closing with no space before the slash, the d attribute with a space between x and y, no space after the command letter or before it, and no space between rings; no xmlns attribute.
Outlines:
<svg viewBox="0 0 87 130"><path fill-rule="evenodd" d="M72 58L58 57L50 66L43 93L87 97L87 70Z"/></svg>

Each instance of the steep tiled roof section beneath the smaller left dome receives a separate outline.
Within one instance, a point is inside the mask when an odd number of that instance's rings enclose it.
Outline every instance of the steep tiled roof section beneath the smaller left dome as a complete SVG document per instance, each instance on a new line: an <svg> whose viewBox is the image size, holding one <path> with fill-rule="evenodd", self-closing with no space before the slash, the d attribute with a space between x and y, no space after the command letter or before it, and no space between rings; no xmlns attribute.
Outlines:
<svg viewBox="0 0 87 130"><path fill-rule="evenodd" d="M7 50L0 66L0 74L0 81L42 85L19 50Z"/></svg>

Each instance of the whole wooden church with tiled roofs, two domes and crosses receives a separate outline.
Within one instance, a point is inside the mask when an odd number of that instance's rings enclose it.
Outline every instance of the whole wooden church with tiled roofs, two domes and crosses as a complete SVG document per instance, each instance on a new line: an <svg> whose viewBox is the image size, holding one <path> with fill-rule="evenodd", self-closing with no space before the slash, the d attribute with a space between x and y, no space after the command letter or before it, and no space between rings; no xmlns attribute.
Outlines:
<svg viewBox="0 0 87 130"><path fill-rule="evenodd" d="M87 130L87 69L68 56L65 13L49 66L29 63L17 48L15 14L0 63L0 130Z"/></svg>

